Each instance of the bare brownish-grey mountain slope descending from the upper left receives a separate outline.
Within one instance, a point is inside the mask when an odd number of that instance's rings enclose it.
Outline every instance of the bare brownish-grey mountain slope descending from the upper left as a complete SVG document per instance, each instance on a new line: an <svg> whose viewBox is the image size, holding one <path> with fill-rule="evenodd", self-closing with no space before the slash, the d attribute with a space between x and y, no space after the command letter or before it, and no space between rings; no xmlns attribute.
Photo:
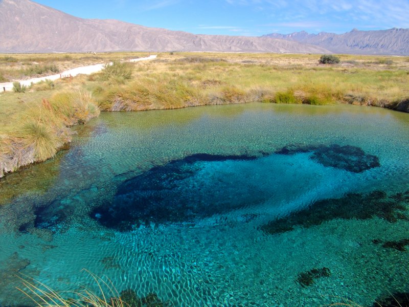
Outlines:
<svg viewBox="0 0 409 307"><path fill-rule="evenodd" d="M230 51L329 53L270 37L195 35L118 20L83 19L29 0L0 0L0 52Z"/></svg>

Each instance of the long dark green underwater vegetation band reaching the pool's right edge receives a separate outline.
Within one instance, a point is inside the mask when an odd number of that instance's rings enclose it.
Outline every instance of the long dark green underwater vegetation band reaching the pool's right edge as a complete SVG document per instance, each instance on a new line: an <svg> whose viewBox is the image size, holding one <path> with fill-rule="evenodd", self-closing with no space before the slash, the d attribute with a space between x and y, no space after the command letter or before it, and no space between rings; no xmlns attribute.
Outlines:
<svg viewBox="0 0 409 307"><path fill-rule="evenodd" d="M339 199L320 200L305 209L270 221L260 229L268 234L283 233L293 230L296 226L308 228L335 218L367 220L377 216L390 223L398 220L409 221L409 217L404 213L409 191L399 195L405 195L403 201L397 200L396 195L388 197L383 191L368 194L349 193Z"/></svg>

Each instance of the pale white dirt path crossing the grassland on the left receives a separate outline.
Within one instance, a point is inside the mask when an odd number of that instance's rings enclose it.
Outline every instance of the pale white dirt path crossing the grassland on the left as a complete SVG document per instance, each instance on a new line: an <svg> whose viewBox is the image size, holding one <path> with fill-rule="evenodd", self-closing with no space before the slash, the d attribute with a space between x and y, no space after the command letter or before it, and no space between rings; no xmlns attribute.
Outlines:
<svg viewBox="0 0 409 307"><path fill-rule="evenodd" d="M150 55L148 57L144 57L144 58L137 58L137 59L131 59L129 60L129 62L139 62L139 61L146 61L146 60L152 60L155 59L156 55ZM64 77L75 77L79 74L85 74L85 75L90 75L93 73L97 73L100 72L105 64L96 64L96 65L88 65L88 66L82 66L82 67L77 67L74 69L70 69L67 71L64 71L60 74L57 75L51 75L51 76L46 76L46 77L40 77L40 78L32 78L29 80L15 80L21 83L21 85L26 85L26 86L30 86L31 83L38 83L41 81L45 81L45 80L57 80L60 78L64 78ZM14 81L14 82L15 82ZM13 82L4 82L4 83L0 83L0 91L12 91L13 90Z"/></svg>

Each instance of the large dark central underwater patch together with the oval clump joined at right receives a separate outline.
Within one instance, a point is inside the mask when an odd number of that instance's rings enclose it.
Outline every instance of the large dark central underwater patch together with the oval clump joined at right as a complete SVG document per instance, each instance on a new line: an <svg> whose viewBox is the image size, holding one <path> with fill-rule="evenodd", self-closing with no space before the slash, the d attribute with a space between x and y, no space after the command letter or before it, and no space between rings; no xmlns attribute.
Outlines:
<svg viewBox="0 0 409 307"><path fill-rule="evenodd" d="M379 166L376 156L366 154L362 149L354 146L310 146L284 147L275 154L313 151L311 159L326 167L335 167L351 172L362 172ZM261 157L271 155L259 152ZM192 222L195 218L209 217L218 213L225 213L243 207L260 203L261 199L252 196L252 200L229 197L221 194L219 198L209 195L211 190L223 190L220 178L206 175L203 185L195 180L189 180L206 167L209 163L225 161L252 161L261 157L251 155L209 155L198 153L183 159L173 160L163 166L156 166L150 170L131 178L119 185L112 203L100 205L90 212L90 217L101 225L121 231L131 230L133 227L169 222ZM223 166L224 167L224 166ZM187 186L191 185L191 186ZM224 188L237 187L231 184ZM243 192L243 191L241 191ZM261 197L261 196L260 196ZM292 229L292 228L291 228Z"/></svg>

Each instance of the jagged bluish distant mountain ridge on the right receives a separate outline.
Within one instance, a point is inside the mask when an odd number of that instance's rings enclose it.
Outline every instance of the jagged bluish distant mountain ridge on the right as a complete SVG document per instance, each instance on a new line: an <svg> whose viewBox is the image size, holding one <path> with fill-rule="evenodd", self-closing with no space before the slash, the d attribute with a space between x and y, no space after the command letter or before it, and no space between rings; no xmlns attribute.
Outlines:
<svg viewBox="0 0 409 307"><path fill-rule="evenodd" d="M344 34L305 31L291 34L271 33L262 37L298 41L322 47L334 53L409 55L409 29L359 31L353 29Z"/></svg>

